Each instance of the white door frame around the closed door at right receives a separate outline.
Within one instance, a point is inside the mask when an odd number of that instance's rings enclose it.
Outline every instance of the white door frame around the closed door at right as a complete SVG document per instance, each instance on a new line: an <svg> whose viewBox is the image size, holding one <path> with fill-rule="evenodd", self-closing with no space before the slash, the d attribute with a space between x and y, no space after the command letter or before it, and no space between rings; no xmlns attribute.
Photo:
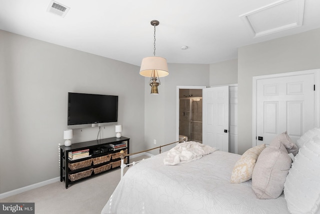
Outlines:
<svg viewBox="0 0 320 214"><path fill-rule="evenodd" d="M320 69L311 69L311 70L301 70L301 71L293 71L286 73L275 73L269 75L260 75L260 76L252 76L252 147L256 145L256 85L257 80L266 79L266 78L277 78L277 77L286 77L286 76L294 76L294 75L303 75L303 74L314 74L314 84L320 82ZM319 85L315 86L314 91L314 126L319 127L320 121L320 92Z"/></svg>

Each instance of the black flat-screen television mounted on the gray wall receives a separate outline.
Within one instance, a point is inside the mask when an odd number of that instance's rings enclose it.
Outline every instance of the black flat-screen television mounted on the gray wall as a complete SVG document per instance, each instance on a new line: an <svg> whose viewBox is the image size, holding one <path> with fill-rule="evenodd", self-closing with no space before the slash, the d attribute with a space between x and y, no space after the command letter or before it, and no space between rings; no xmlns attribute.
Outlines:
<svg viewBox="0 0 320 214"><path fill-rule="evenodd" d="M102 126L116 122L118 96L68 92L67 127Z"/></svg>

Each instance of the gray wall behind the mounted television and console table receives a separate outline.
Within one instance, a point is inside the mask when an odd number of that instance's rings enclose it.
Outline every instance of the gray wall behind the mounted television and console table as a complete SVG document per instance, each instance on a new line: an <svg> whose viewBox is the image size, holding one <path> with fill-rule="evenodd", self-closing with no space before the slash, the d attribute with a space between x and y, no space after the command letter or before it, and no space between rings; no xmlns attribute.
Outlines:
<svg viewBox="0 0 320 214"><path fill-rule="evenodd" d="M144 77L139 67L0 30L0 193L59 176L58 143L66 128L67 92L118 95L118 122L144 141ZM94 140L98 127L75 129L73 143Z"/></svg>

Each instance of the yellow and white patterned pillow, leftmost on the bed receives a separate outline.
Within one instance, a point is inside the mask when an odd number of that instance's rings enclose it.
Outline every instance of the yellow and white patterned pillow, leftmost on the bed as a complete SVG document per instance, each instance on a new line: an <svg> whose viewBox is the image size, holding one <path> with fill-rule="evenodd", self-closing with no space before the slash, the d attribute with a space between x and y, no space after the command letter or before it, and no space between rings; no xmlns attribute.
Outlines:
<svg viewBox="0 0 320 214"><path fill-rule="evenodd" d="M255 161L264 148L265 144L257 145L242 154L234 164L230 179L231 183L241 183L251 179Z"/></svg>

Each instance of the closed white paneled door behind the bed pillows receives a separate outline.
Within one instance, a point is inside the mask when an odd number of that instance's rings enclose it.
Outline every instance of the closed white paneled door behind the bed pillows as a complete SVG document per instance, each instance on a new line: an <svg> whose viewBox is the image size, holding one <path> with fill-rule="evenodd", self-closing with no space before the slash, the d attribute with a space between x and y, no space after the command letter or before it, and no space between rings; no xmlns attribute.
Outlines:
<svg viewBox="0 0 320 214"><path fill-rule="evenodd" d="M314 75L258 79L256 145L287 130L292 140L314 127Z"/></svg>

